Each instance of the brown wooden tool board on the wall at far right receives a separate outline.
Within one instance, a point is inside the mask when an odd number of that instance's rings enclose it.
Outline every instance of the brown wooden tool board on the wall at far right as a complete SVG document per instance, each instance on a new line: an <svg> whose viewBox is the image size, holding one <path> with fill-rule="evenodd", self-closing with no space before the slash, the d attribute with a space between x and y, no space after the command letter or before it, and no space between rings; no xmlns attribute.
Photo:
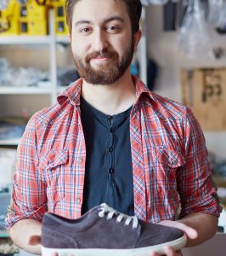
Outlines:
<svg viewBox="0 0 226 256"><path fill-rule="evenodd" d="M181 71L183 102L204 131L226 131L226 67Z"/></svg>

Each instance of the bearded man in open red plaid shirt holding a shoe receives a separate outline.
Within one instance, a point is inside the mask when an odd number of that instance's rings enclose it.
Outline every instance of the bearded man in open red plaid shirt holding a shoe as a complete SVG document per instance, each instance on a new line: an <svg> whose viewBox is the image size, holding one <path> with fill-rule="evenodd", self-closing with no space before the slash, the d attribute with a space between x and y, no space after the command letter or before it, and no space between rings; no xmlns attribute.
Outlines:
<svg viewBox="0 0 226 256"><path fill-rule="evenodd" d="M7 218L14 243L41 253L34 237L45 212L79 218L103 201L184 230L187 246L206 241L220 207L201 128L188 108L130 74L140 1L68 0L66 11L82 79L27 125Z"/></svg>

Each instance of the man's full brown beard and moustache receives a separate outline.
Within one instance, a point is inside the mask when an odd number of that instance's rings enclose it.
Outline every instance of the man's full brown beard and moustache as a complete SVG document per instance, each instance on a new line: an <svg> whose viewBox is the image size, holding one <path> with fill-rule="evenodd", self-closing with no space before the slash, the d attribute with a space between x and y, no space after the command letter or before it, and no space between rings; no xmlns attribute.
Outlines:
<svg viewBox="0 0 226 256"><path fill-rule="evenodd" d="M89 84L114 84L126 72L133 60L134 40L130 44L129 49L120 57L114 50L104 49L95 51L85 56L84 61L79 55L73 55L77 72L82 79L85 79ZM99 65L95 69L91 67L90 61L93 58L106 57L107 64Z"/></svg>

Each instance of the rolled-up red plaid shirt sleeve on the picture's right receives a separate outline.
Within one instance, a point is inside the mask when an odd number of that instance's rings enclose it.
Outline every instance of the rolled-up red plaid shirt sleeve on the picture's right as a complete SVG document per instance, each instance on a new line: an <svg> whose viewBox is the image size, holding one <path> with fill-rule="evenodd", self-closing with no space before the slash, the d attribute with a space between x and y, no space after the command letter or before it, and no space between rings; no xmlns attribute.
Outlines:
<svg viewBox="0 0 226 256"><path fill-rule="evenodd" d="M180 218L191 212L204 212L219 217L222 207L212 187L212 170L208 161L206 142L194 114L187 108L184 125L186 164L178 170L178 194L181 201Z"/></svg>

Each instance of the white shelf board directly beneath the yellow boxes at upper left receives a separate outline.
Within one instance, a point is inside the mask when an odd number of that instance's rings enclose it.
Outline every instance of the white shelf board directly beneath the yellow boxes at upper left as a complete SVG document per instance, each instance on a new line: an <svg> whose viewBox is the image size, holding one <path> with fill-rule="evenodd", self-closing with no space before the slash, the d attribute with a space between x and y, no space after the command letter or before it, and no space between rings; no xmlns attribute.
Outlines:
<svg viewBox="0 0 226 256"><path fill-rule="evenodd" d="M49 44L50 36L0 36L0 44Z"/></svg>

